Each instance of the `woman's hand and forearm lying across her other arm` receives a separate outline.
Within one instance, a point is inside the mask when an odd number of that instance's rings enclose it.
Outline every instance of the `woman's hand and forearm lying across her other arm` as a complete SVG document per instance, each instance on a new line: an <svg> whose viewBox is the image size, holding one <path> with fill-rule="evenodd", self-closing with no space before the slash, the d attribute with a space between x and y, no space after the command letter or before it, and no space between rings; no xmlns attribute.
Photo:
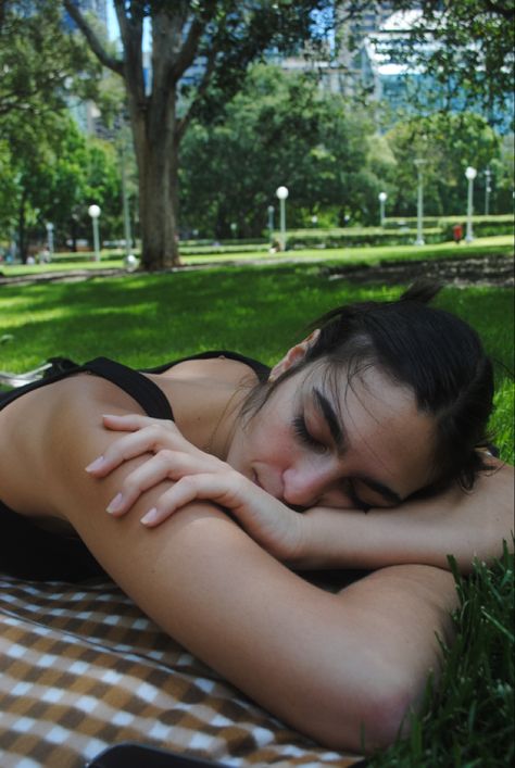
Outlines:
<svg viewBox="0 0 515 768"><path fill-rule="evenodd" d="M130 507L140 489L166 477L179 480L159 500L151 519L145 518L152 526L194 499L209 499L231 509L255 541L298 569L374 569L407 563L448 568L448 555L453 555L460 570L468 572L475 557L488 562L499 556L503 540L513 545L513 467L493 458L493 469L479 476L472 492L455 484L395 508L367 514L313 508L300 515L190 445L175 426L131 417L106 424L129 435L111 446L99 476L128 456L155 454L120 489L124 505L117 513Z"/></svg>

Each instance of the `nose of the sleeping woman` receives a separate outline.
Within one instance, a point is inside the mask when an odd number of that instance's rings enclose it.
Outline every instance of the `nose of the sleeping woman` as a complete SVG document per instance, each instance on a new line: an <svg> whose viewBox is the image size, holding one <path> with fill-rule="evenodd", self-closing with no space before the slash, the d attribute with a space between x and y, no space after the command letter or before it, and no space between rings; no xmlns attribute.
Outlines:
<svg viewBox="0 0 515 768"><path fill-rule="evenodd" d="M340 476L341 468L330 459L290 466L282 474L284 501L293 506L313 506Z"/></svg>

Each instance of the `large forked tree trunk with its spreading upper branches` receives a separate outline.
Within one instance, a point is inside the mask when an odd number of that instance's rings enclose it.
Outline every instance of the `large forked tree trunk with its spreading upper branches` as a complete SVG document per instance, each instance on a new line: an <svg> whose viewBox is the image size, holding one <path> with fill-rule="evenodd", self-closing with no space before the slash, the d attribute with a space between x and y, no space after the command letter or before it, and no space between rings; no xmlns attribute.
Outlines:
<svg viewBox="0 0 515 768"><path fill-rule="evenodd" d="M275 47L291 52L317 38L323 0L114 0L123 55L113 56L72 0L66 11L99 61L124 80L139 172L142 263L178 263L178 152L194 115L212 116L240 87L249 64ZM143 21L151 20L151 76Z"/></svg>

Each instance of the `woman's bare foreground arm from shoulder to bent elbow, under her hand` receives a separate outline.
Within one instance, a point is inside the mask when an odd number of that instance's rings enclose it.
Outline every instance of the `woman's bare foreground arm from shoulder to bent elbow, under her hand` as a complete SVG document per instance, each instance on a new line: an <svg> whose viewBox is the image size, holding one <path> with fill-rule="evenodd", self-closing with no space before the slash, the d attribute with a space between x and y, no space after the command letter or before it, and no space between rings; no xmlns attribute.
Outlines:
<svg viewBox="0 0 515 768"><path fill-rule="evenodd" d="M104 479L84 467L114 439L100 414L134 411L134 403L93 377L52 387L45 401L33 393L23 411L12 406L29 428L16 440L8 433L9 503L67 519L166 632L298 730L337 748L361 750L363 728L368 748L391 741L438 669L435 632L450 637L452 577L399 566L340 595L322 592L210 504L190 504L159 530L145 530L140 517L169 481L113 519L109 501L145 459ZM23 483L27 470L32 481Z"/></svg>

